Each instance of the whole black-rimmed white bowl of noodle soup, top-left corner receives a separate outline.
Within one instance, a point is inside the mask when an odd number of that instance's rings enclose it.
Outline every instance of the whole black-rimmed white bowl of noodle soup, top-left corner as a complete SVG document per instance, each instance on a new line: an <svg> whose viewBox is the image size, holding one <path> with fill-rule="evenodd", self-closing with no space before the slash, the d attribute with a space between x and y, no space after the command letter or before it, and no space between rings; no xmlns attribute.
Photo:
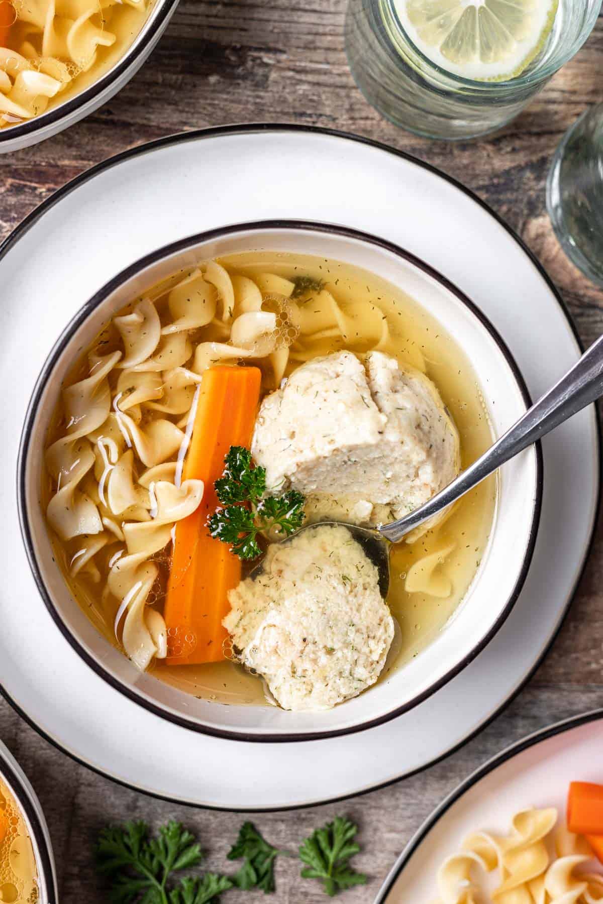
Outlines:
<svg viewBox="0 0 603 904"><path fill-rule="evenodd" d="M178 0L0 0L0 152L37 144L113 97Z"/></svg>

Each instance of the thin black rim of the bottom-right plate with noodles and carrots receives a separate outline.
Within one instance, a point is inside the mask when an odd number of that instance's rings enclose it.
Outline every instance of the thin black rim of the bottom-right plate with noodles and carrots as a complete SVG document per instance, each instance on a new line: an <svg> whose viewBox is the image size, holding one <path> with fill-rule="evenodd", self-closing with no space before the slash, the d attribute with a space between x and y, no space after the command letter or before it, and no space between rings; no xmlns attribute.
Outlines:
<svg viewBox="0 0 603 904"><path fill-rule="evenodd" d="M387 899L390 896L390 892L393 890L394 885L400 878L400 872L410 861L410 858L414 855L420 845L425 841L434 826L438 824L442 816L448 813L450 807L456 804L457 800L459 800L460 797L464 796L470 788L477 785L478 782L482 780L482 778L485 778L485 776L489 775L491 772L494 772L495 769L497 769L499 766L503 766L503 764L508 762L508 760L513 759L520 753L523 753L523 750L535 747L542 741L554 738L556 735L565 734L566 731L580 728L580 726L582 725L587 725L589 722L596 722L601 719L603 719L603 709L585 712L579 716L570 716L569 719L564 719L561 722L555 722L553 725L549 725L543 729L534 731L534 733L528 735L527 738L515 741L515 743L512 744L511 747L507 747L501 753L497 753L495 757L488 759L483 766L478 767L475 772L473 772L469 777L461 782L461 784L458 785L454 789L454 791L452 791L452 793L449 794L442 801L442 803L436 807L433 813L428 816L426 822L421 825L419 832L413 835L407 847L400 854L398 862L396 862L393 866L390 875L383 883L374 904L386 904Z"/></svg>

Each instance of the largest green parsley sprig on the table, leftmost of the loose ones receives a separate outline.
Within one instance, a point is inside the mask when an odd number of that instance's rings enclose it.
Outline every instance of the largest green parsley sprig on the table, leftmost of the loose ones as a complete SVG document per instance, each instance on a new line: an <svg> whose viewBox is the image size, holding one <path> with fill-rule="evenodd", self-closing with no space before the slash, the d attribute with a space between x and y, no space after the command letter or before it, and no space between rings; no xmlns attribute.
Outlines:
<svg viewBox="0 0 603 904"><path fill-rule="evenodd" d="M99 834L96 856L99 873L111 882L114 904L215 904L232 888L231 880L213 872L168 888L174 872L203 860L193 835L174 820L162 825L156 838L149 838L144 822L110 826Z"/></svg>

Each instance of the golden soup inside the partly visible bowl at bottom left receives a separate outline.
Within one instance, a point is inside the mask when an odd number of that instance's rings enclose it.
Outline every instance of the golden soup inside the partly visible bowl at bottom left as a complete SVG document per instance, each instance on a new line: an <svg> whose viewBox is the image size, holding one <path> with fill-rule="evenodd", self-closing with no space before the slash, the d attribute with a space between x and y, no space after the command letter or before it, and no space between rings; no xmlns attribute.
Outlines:
<svg viewBox="0 0 603 904"><path fill-rule="evenodd" d="M14 797L0 778L0 902L40 899L32 842Z"/></svg>

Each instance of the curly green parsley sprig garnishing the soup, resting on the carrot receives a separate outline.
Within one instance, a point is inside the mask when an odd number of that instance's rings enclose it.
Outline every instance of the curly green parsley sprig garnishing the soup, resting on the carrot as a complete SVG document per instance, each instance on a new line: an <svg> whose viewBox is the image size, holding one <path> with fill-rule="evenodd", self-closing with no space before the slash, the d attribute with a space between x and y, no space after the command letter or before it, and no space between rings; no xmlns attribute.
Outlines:
<svg viewBox="0 0 603 904"><path fill-rule="evenodd" d="M261 555L258 537L286 537L304 522L306 498L297 490L267 496L266 469L254 466L249 449L231 446L214 486L220 506L210 516L212 537L229 543L240 559Z"/></svg>

